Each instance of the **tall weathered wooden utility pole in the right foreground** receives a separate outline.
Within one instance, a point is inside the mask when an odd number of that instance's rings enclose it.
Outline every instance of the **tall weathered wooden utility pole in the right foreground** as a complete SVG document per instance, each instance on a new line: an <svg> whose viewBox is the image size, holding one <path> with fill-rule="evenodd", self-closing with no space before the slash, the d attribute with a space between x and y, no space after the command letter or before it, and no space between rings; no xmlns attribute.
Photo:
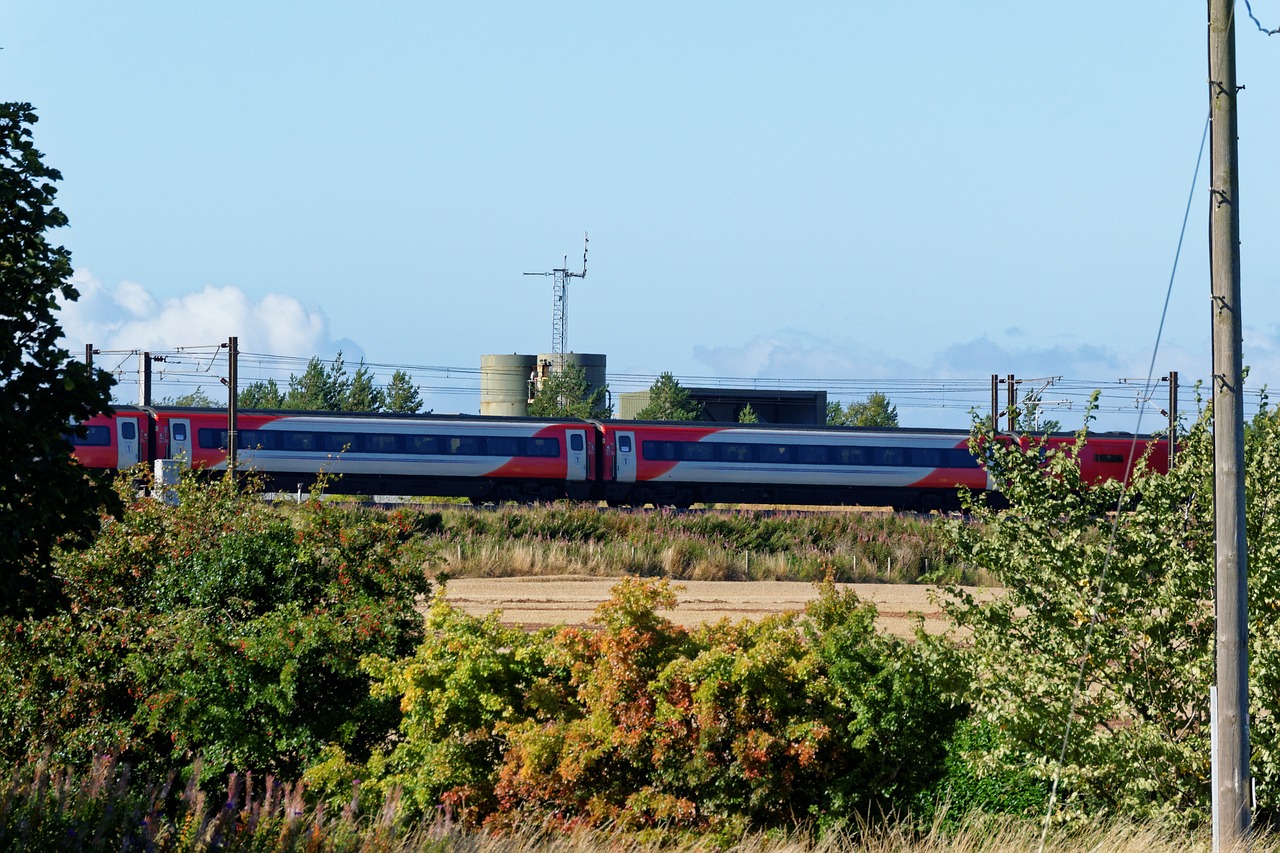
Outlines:
<svg viewBox="0 0 1280 853"><path fill-rule="evenodd" d="M1217 607L1215 841L1249 835L1249 622L1244 539L1240 205L1233 0L1208 0L1210 274L1213 314L1213 539ZM1215 845L1216 847L1216 845Z"/></svg>

